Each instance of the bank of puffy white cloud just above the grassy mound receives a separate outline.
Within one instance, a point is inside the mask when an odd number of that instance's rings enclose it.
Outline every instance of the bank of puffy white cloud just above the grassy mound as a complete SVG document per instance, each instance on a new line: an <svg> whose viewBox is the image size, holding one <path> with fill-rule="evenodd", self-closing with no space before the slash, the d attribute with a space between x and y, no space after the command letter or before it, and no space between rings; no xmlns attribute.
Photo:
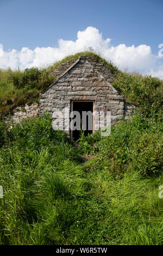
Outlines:
<svg viewBox="0 0 163 256"><path fill-rule="evenodd" d="M87 27L85 31L79 31L77 40L59 39L58 47L36 47L30 50L23 47L21 51L9 50L3 51L3 45L0 44L0 68L25 69L32 66L45 66L61 60L68 54L74 54L79 51L85 51L89 47L100 53L106 60L111 60L121 70L139 71L142 74L151 74L163 78L163 58L162 49L158 56L155 56L151 47L148 45L139 45L135 47L120 44L111 45L111 39L103 39L102 33L97 28ZM159 45L159 48L163 44Z"/></svg>

